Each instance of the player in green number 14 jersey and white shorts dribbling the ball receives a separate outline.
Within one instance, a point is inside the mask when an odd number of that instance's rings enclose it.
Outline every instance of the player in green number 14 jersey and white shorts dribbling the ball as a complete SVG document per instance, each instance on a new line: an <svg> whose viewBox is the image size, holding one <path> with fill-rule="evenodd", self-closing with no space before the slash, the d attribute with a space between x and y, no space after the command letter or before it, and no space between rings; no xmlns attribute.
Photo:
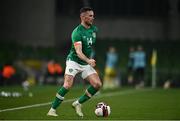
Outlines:
<svg viewBox="0 0 180 121"><path fill-rule="evenodd" d="M65 94L72 87L74 77L77 73L81 73L82 78L90 83L85 94L72 103L72 107L75 109L78 116L84 116L81 110L81 105L89 100L102 86L101 80L93 68L96 66L96 61L90 58L92 45L96 41L97 33L97 27L92 25L94 20L94 12L92 8L81 8L80 19L81 23L73 30L71 35L72 46L70 53L67 56L64 84L57 91L52 106L47 113L48 116L58 116L56 109L64 100Z"/></svg>

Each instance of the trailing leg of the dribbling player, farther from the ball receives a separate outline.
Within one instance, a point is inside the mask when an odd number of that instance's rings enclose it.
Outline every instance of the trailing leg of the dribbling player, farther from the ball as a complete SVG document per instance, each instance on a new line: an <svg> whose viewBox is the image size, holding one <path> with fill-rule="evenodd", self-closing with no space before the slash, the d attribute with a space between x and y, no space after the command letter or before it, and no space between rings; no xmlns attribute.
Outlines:
<svg viewBox="0 0 180 121"><path fill-rule="evenodd" d="M49 112L47 113L48 116L58 116L58 114L56 113L56 109L64 100L65 94L72 87L73 79L74 79L74 76L72 76L72 75L66 74L64 76L64 85L56 93L56 97L55 97L54 101L52 102L52 106L51 106Z"/></svg>

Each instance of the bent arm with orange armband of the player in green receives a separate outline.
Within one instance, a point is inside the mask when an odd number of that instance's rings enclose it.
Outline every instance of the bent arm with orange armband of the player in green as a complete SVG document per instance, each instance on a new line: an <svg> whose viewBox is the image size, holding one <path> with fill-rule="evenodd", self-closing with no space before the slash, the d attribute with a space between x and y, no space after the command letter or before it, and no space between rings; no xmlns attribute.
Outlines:
<svg viewBox="0 0 180 121"><path fill-rule="evenodd" d="M77 56L87 62L89 65L91 65L92 67L96 66L96 61L94 59L89 59L88 57L86 57L84 55L84 53L82 52L82 43L81 41L77 41L74 43L74 47L75 47L75 50L76 50L76 53L77 53Z"/></svg>

